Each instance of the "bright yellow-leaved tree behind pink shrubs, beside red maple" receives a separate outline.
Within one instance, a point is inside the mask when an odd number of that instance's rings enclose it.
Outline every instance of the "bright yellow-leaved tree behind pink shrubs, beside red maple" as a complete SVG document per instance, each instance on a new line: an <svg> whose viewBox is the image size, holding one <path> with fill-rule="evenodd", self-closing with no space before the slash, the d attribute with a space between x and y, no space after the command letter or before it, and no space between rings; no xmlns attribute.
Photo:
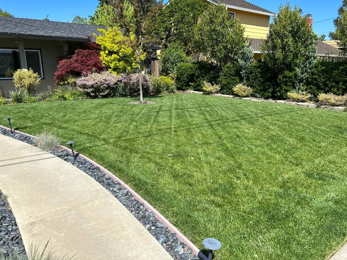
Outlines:
<svg viewBox="0 0 347 260"><path fill-rule="evenodd" d="M129 39L122 35L119 27L98 31L101 32L96 38L96 43L101 47L100 60L108 71L115 74L137 71L137 54L131 45L135 35L132 34ZM142 53L140 60L144 60L145 55Z"/></svg>

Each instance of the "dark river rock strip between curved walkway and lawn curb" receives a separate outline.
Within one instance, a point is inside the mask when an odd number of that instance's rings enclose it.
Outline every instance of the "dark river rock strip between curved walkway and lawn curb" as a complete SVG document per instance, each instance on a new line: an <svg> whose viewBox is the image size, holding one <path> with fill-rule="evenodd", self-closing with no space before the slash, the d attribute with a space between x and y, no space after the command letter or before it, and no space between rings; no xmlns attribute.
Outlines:
<svg viewBox="0 0 347 260"><path fill-rule="evenodd" d="M12 137L14 139L26 142L33 145L33 136L25 135L24 133L18 133L14 131L11 133L8 129L0 126L0 134ZM76 166L79 170L85 172L91 176L95 181L99 182L105 189L107 189L113 196L115 196L126 207L133 216L150 232L153 237L162 245L162 247L171 255L173 259L177 260L207 260L207 257L199 251L193 252L191 248L185 244L182 239L179 239L177 233L172 232L167 225L161 222L155 217L153 211L149 211L144 206L143 202L140 202L133 194L122 187L122 185L111 178L108 174L103 172L100 167L95 166L91 162L87 161L84 156L78 155L76 161L66 147L63 150L51 151L50 153L63 159L64 161ZM1 201L0 201L0 216L1 215ZM1 228L0 228L1 230ZM1 236L1 233L0 233ZM184 237L186 239L186 237ZM187 239L186 239L187 240ZM0 245L3 238L0 238ZM190 241L189 241L190 242ZM6 242L3 242L6 243ZM21 244L23 246L23 243ZM24 248L24 246L23 246ZM0 247L1 250L1 247ZM198 250L195 248L194 251ZM22 251L23 252L23 251ZM197 257L195 254L198 254Z"/></svg>

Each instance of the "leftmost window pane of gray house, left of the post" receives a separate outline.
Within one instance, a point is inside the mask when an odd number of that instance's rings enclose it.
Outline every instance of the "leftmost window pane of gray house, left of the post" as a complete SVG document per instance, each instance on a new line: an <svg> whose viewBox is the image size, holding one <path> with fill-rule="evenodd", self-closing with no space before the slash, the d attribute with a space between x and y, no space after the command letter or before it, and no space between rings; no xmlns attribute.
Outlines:
<svg viewBox="0 0 347 260"><path fill-rule="evenodd" d="M20 69L19 51L0 49L0 78L11 79L17 69Z"/></svg>

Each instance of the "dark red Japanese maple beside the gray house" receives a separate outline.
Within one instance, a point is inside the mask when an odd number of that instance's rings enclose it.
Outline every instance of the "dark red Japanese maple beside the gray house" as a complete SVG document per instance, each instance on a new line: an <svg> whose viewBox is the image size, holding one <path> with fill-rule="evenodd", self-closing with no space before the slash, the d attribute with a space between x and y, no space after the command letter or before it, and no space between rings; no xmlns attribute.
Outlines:
<svg viewBox="0 0 347 260"><path fill-rule="evenodd" d="M58 61L57 71L54 73L54 79L57 85L64 81L67 76L81 77L89 72L101 72L105 67L100 61L100 47L93 42L78 46L73 55L69 55ZM83 49L82 49L83 48Z"/></svg>

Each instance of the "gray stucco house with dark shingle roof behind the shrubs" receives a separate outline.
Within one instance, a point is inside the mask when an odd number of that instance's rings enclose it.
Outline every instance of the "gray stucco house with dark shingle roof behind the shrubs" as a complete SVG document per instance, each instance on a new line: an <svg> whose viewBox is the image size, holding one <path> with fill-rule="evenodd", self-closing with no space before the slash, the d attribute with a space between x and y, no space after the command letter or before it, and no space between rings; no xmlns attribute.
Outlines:
<svg viewBox="0 0 347 260"><path fill-rule="evenodd" d="M0 89L2 95L14 90L13 72L32 68L42 77L40 90L54 85L57 60L69 44L95 41L93 33L104 26L47 20L0 17ZM91 38L88 38L90 36Z"/></svg>

